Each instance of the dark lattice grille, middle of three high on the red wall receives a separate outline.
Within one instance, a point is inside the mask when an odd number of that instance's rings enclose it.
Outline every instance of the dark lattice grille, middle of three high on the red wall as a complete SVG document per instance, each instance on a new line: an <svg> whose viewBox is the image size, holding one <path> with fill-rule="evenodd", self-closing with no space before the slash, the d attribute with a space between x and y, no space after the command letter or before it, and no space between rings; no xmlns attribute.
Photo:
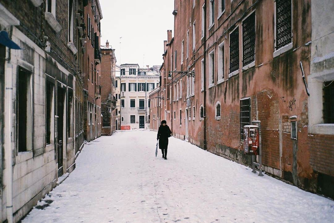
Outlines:
<svg viewBox="0 0 334 223"><path fill-rule="evenodd" d="M255 61L255 11L242 22L242 66Z"/></svg>

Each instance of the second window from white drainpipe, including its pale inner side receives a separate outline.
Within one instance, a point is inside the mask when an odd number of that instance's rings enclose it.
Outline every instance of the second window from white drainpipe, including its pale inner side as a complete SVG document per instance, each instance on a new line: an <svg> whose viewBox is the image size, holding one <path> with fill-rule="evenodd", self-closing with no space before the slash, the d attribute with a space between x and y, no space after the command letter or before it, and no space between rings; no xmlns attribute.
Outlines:
<svg viewBox="0 0 334 223"><path fill-rule="evenodd" d="M53 118L54 118L54 85L46 81L45 83L45 140L46 144L53 142Z"/></svg>

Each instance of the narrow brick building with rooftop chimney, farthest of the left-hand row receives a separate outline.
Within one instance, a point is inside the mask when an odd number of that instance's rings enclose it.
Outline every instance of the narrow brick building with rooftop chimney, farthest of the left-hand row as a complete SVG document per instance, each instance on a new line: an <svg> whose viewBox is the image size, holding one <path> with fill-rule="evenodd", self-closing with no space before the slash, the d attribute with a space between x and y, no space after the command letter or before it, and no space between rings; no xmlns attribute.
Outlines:
<svg viewBox="0 0 334 223"><path fill-rule="evenodd" d="M115 49L109 48L107 40L106 47L101 48L101 114L102 135L111 135L116 130L116 57ZM116 97L115 97L116 96Z"/></svg>

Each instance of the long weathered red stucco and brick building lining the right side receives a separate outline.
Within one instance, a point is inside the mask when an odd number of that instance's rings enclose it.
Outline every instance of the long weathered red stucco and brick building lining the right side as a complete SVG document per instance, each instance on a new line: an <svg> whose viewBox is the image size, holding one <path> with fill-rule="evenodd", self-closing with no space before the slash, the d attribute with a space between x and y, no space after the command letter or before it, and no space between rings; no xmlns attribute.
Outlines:
<svg viewBox="0 0 334 223"><path fill-rule="evenodd" d="M312 2L318 10L320 5ZM243 126L260 120L264 171L334 197L328 183L334 177L333 120L322 118L333 115L333 103L324 99L313 123L317 99L310 103L307 89L312 40L321 37L311 33L311 21L327 27L317 14L311 20L311 0L193 0L174 1L174 6L175 34L172 38L168 31L164 41L159 93L167 99L161 101L161 119L173 135L249 165ZM323 56L332 52L327 45L321 50ZM324 59L328 56L315 61ZM331 88L322 93L321 80L316 84L314 95L330 98Z"/></svg>

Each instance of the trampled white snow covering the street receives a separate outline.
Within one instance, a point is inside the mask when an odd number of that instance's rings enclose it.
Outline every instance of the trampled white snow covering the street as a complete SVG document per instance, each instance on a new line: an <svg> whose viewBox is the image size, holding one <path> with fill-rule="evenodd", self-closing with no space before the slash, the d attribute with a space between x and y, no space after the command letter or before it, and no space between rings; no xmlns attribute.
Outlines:
<svg viewBox="0 0 334 223"><path fill-rule="evenodd" d="M333 222L334 201L174 137L123 131L86 144L76 169L22 222Z"/></svg>

